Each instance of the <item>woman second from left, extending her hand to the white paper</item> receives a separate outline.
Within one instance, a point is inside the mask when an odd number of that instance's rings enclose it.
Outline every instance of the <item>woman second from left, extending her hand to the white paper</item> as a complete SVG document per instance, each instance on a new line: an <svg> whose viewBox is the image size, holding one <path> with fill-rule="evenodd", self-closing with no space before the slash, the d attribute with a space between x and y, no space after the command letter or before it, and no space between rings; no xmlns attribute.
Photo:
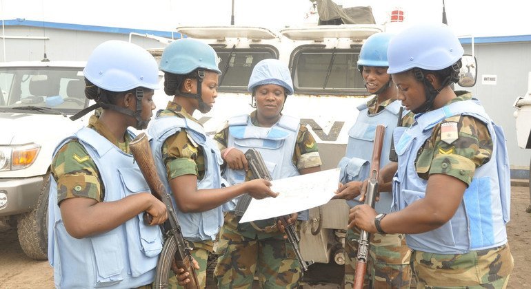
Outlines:
<svg viewBox="0 0 531 289"><path fill-rule="evenodd" d="M212 47L190 38L174 41L163 51L160 69L164 92L173 100L159 111L148 130L153 138L152 153L157 171L177 203L183 237L193 244L199 286L204 288L208 255L223 225L222 205L243 193L256 198L277 194L265 180L221 188L219 149L192 116L196 110L210 111L217 97L221 72Z"/></svg>

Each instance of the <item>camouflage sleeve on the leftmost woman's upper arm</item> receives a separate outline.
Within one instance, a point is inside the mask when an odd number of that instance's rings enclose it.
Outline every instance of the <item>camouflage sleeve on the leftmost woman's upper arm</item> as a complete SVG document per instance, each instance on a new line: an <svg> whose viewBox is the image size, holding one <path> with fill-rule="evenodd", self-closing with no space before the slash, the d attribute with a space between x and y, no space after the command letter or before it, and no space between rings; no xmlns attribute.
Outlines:
<svg viewBox="0 0 531 289"><path fill-rule="evenodd" d="M72 197L103 201L105 193L98 168L77 140L59 149L52 160L51 171L57 182L57 204Z"/></svg>

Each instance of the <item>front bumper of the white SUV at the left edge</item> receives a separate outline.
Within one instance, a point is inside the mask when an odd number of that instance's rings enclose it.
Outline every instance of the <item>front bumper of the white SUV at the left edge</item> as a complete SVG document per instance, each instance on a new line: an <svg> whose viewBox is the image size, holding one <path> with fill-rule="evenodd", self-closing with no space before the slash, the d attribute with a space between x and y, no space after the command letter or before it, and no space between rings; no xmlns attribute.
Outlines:
<svg viewBox="0 0 531 289"><path fill-rule="evenodd" d="M0 179L0 197L7 197L7 203L0 207L0 217L31 211L39 200L42 183L41 175L31 178Z"/></svg>

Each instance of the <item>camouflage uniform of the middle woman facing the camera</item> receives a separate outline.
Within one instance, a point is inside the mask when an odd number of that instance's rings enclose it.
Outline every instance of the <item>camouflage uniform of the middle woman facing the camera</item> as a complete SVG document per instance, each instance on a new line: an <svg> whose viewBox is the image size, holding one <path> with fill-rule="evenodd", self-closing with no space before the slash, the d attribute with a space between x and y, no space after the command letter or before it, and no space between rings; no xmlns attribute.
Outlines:
<svg viewBox="0 0 531 289"><path fill-rule="evenodd" d="M257 111L250 114L253 125ZM214 140L220 149L226 149L228 125L221 129ZM319 167L321 158L317 143L301 125L294 148L293 164L297 169ZM249 178L249 173L248 173ZM251 288L256 273L262 288L298 288L302 277L301 266L291 244L283 239L274 220L238 224L239 218L230 212L219 237L220 254L214 270L219 288Z"/></svg>

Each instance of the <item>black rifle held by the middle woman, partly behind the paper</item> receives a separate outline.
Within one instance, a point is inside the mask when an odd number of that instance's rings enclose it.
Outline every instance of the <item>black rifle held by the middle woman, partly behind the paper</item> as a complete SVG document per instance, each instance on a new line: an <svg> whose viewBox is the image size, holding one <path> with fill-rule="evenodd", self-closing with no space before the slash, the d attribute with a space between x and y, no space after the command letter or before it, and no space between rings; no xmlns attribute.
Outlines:
<svg viewBox="0 0 531 289"><path fill-rule="evenodd" d="M255 179L265 179L268 181L271 181L271 175L268 171L268 168L265 167L265 162L263 162L262 155L259 151L256 149L248 149L245 153L247 162L249 164L249 169L252 172L252 176ZM247 195L247 194L246 194ZM242 197L245 195L242 195ZM293 247L293 250L295 251L295 255L297 256L297 260L299 260L299 263L301 264L301 268L304 271L308 270L308 265L306 262L302 259L301 250L299 250L299 235L297 235L297 231L295 230L294 224L288 224L288 219L286 216L281 216L279 219L282 220L283 224L286 224L285 227L285 235L288 236L288 242L290 242L291 246Z"/></svg>

